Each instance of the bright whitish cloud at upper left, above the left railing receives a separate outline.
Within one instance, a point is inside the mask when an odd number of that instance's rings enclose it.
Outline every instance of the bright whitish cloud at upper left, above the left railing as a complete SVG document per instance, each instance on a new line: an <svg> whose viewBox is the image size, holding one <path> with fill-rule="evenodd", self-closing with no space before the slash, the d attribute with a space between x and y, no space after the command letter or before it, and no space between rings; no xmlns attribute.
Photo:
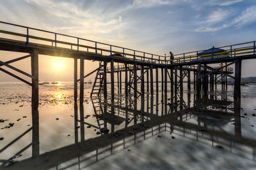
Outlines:
<svg viewBox="0 0 256 170"><path fill-rule="evenodd" d="M125 27L122 16L111 16L111 13L103 13L102 9L94 8L84 10L80 8L79 3L70 2L59 2L55 3L53 0L26 0L27 3L38 6L40 9L50 13L51 18L58 20L61 25L71 24L72 27L60 27L57 23L52 23L49 20L51 27L58 30L70 30L77 32L81 30L90 30L90 34L106 34L109 32L116 31Z"/></svg>

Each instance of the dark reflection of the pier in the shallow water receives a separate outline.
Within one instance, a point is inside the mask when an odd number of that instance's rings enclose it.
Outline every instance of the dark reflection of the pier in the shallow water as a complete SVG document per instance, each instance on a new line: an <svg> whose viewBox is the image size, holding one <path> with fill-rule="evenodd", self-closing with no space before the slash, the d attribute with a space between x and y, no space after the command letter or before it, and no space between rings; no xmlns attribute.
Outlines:
<svg viewBox="0 0 256 170"><path fill-rule="evenodd" d="M188 96L190 96L190 94L188 94ZM196 96L194 95L194 97ZM166 96L162 94L161 98L166 98ZM97 125L92 125L82 119L84 117L83 105L80 105L79 108L80 117L82 118L81 121L78 120L77 104L75 104L75 143L73 145L52 150L51 152L44 154L38 154L36 157L21 160L20 162L15 162L15 164L9 168L15 169L17 167L26 167L27 169L47 169L56 166L58 169L58 166L61 165L61 167L64 166L63 168L65 169L70 166L80 167L83 162L86 162L87 160L90 160L90 163L87 162L86 165L83 164L83 166L90 166L90 164L100 160L100 157L111 155L115 150L127 148L131 143L138 143L149 138L149 136L153 136L154 134L158 134L163 131L169 131L186 138L189 136L190 139L191 136L193 136L195 141L206 141L206 143L208 141L208 143L212 143L212 146L214 146L214 143L215 145L220 143L223 146L230 147L230 150L233 148L240 150L241 152L248 152L248 150L245 151L243 148L236 146L236 143L239 143L240 145L252 148L249 152L253 153L254 157L255 152L253 152L253 150L256 145L256 140L243 138L241 135L240 103L228 101L227 97L221 97L221 99L222 100L218 100L218 97L216 96L210 96L210 99L206 97L199 99L194 98L195 103L191 108L189 107L189 104L187 104L187 106L180 107L180 104L172 105L164 103L163 100L159 105L165 111L160 115L154 111L154 109L158 108L158 104L154 103L152 97L141 97L141 109L139 110L134 109L137 107L136 105L138 103L136 103L136 100L132 101L131 97L130 99L125 98L125 104L122 104L122 101L117 101L115 104L111 104L101 102L102 99L100 98L93 99L92 102L94 103L93 107L95 110ZM178 99L170 99L171 102L175 100L178 101ZM133 104L131 105L129 101L132 101ZM95 103L97 103L97 106ZM148 105L150 107L150 111L148 111L148 109L147 111L143 111L145 110L143 106L145 103L150 103L150 105ZM185 102L180 103L183 105ZM216 111L216 108L223 108L223 111ZM110 120L99 116L104 114L115 116L111 117ZM226 124L232 122L232 119L234 118L235 133L232 134L232 132L226 132L221 129L220 122L212 119L216 117L221 118L221 120L227 120ZM197 124L189 122L189 120L193 118L197 118ZM115 119L124 120L124 127L121 129L118 127L119 129L115 130ZM80 142L78 141L79 134L78 129L76 128L78 125L80 125L81 129ZM86 135L86 133L84 132L84 125L92 125L97 129L101 129L101 125L103 125L104 128L108 128L110 126L111 131L108 134L104 134L104 132L102 132L99 137L85 140L84 135ZM31 130L33 129L29 129L28 131ZM36 134L36 136L38 135L39 134ZM19 138L21 138L21 136L15 140L19 140ZM33 139L35 138L33 137ZM10 143L10 145L12 145L12 143ZM30 145L31 144L29 144L28 147ZM39 148L33 147L32 149L39 153ZM26 150L26 148L23 150ZM20 153L21 152L22 150ZM33 153L35 153L35 151ZM91 159L93 159L93 157L94 160L92 161ZM74 159L76 159L76 161L74 161ZM71 162L67 163L68 161ZM8 162L4 162L4 164L8 164ZM2 166L4 166L4 164L2 164Z"/></svg>

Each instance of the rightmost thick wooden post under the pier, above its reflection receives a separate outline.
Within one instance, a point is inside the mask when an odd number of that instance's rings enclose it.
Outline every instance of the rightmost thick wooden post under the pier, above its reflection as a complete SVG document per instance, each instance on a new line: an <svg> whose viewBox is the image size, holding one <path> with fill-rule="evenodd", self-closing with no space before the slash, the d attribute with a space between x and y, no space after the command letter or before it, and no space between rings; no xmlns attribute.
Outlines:
<svg viewBox="0 0 256 170"><path fill-rule="evenodd" d="M242 61L235 62L235 86L234 86L234 100L241 99L241 67Z"/></svg>

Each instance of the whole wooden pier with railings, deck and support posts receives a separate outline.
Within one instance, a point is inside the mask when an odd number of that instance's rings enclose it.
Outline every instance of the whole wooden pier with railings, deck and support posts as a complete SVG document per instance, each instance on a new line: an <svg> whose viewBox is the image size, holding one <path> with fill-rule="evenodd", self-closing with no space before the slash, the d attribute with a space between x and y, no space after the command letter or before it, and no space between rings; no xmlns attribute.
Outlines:
<svg viewBox="0 0 256 170"><path fill-rule="evenodd" d="M17 59L5 62L0 60L0 71L31 86L33 118L33 140L31 145L33 156L39 155L38 67L40 63L38 62L38 58L40 55L68 57L74 60L74 101L77 103L79 97L81 114L83 114L84 78L91 74L95 74L95 81L93 82L90 96L92 98L102 96L104 103L107 103L109 92L111 94L111 113L115 110L115 83L117 83L118 93L124 94L126 99L128 96L133 97L133 110L135 111L137 111L136 103L139 97L143 99L146 94L154 97L154 94L158 94L159 92L164 94L164 99L162 99L164 103L167 101L166 94L168 93L172 96L172 104L173 100L177 103L177 96L179 96L180 108L182 108L184 85L186 85L189 92L194 90L196 96L200 98L207 96L209 91L227 90L227 77L234 78L234 101L239 101L241 98L242 61L256 58L255 41L218 47L218 49L222 50L221 52L215 52L214 49L217 48L212 47L207 50L180 53L171 57L23 25L6 22L0 22L0 24L0 50L25 53L24 56ZM42 36L44 34L48 36ZM67 38L69 40L63 41L59 38ZM202 54L202 52L204 53ZM18 62L28 57L31 58L31 74L10 65L13 62ZM99 62L99 67L95 68L91 73L84 75L84 60ZM223 65L218 67L211 66L211 64L221 63ZM79 78L77 75L78 64L80 66ZM233 65L234 70L230 67L231 65ZM3 69L1 66L6 66L13 71L17 71L17 73L28 76L31 78L31 81L24 80L17 74ZM110 74L110 80L108 80L107 74ZM191 83L191 78L193 78L193 83ZM108 82L111 85L110 89L108 89ZM221 84L221 89L217 89L218 83ZM153 100L150 102L152 103ZM77 104L75 106L77 107ZM141 105L141 108L144 109L145 106ZM167 106L165 105L163 108L164 111L162 113L167 113ZM104 105L102 110L104 110L104 113L107 113L107 109L108 106ZM177 111L177 108L175 110ZM77 118L77 114L75 116ZM176 122L161 120L161 123L174 124ZM233 137L230 136L230 138ZM84 139L84 134L81 135L81 139Z"/></svg>

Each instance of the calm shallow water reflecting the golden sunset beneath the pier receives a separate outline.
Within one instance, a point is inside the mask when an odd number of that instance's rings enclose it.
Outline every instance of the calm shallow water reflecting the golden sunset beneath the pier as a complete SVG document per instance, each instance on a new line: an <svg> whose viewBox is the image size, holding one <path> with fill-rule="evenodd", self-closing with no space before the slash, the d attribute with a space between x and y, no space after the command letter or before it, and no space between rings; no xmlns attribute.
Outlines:
<svg viewBox="0 0 256 170"><path fill-rule="evenodd" d="M232 85L227 92L209 92L207 97L196 97L193 91L186 90L186 83L181 96L171 96L170 90L165 96L159 83L158 94L155 91L154 96L150 96L145 89L145 96L137 99L133 94L125 98L124 90L118 94L116 86L114 103L111 103L110 94L105 102L103 97L91 99L91 88L92 84L85 85L84 104L81 105L74 104L70 82L40 85L40 143L33 147L36 135L31 128L31 87L23 83L0 83L1 168L90 167L134 143L150 143L150 138L157 135L161 138L162 132L176 136L177 143L177 136L182 137L180 141L192 140L193 146L202 147L205 153L207 148L214 148L242 155L252 160L248 168L256 163L255 84L242 86L241 101L236 103L232 98ZM196 143L204 143L204 146ZM39 155L33 155L33 150ZM175 150L170 155L180 153Z"/></svg>

